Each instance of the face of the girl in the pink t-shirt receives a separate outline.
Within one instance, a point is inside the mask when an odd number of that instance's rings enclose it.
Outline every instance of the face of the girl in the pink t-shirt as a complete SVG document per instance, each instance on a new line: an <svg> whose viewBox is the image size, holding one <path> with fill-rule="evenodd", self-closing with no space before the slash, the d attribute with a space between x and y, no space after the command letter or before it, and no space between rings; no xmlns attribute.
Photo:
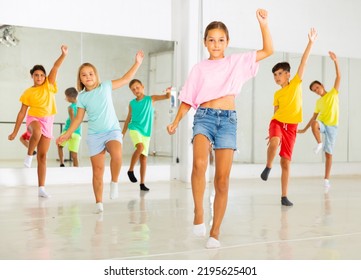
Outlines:
<svg viewBox="0 0 361 280"><path fill-rule="evenodd" d="M209 52L209 59L224 58L224 51L228 46L227 34L223 29L215 28L208 31L204 45Z"/></svg>

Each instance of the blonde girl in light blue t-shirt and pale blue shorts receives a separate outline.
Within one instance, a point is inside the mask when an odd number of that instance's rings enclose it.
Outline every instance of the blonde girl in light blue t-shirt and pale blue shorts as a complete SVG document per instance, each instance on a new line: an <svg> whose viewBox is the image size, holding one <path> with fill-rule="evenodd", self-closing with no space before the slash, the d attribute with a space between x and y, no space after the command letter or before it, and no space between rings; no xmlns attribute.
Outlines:
<svg viewBox="0 0 361 280"><path fill-rule="evenodd" d="M132 67L121 78L100 82L97 69L90 63L79 67L77 87L78 114L67 132L61 135L57 144L69 139L74 130L88 114L88 151L93 170L95 213L103 212L103 175L105 151L110 154L110 199L118 197L118 177L122 164L122 130L115 113L112 91L130 82L143 62L144 54L138 51Z"/></svg>

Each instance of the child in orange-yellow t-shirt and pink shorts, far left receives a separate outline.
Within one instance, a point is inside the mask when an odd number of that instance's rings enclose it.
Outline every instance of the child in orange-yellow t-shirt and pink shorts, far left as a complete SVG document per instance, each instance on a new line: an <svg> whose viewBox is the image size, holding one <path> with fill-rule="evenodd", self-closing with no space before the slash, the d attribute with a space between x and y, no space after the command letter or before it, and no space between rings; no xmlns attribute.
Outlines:
<svg viewBox="0 0 361 280"><path fill-rule="evenodd" d="M61 46L61 55L55 61L48 76L46 76L45 68L42 65L35 65L30 70L34 85L25 90L20 97L22 105L16 118L14 130L8 137L9 140L15 139L26 116L26 127L31 137L24 166L31 167L33 153L36 148L39 196L45 198L49 197L45 191L46 154L53 138L53 122L56 114L54 94L58 91L56 76L67 54L68 47Z"/></svg>

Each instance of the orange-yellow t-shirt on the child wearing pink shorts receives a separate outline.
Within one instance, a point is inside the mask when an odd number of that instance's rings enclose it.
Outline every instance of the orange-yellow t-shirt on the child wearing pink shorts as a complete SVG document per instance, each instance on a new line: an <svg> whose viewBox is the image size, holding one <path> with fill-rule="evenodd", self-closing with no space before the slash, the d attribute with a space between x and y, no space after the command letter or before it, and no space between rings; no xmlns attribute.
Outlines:
<svg viewBox="0 0 361 280"><path fill-rule="evenodd" d="M56 82L52 85L48 78L44 84L31 87L24 91L20 102L29 106L28 115L33 117L48 117L56 114L54 94L58 91Z"/></svg>

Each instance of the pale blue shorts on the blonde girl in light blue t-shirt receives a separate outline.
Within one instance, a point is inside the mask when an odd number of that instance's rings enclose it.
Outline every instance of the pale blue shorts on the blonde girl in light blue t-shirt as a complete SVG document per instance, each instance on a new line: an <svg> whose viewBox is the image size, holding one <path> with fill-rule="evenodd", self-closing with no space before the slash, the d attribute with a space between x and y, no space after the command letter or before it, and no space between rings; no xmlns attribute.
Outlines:
<svg viewBox="0 0 361 280"><path fill-rule="evenodd" d="M104 133L90 134L86 140L89 156L95 156L105 150L109 141L118 141L123 144L123 135L120 130L112 130Z"/></svg>

